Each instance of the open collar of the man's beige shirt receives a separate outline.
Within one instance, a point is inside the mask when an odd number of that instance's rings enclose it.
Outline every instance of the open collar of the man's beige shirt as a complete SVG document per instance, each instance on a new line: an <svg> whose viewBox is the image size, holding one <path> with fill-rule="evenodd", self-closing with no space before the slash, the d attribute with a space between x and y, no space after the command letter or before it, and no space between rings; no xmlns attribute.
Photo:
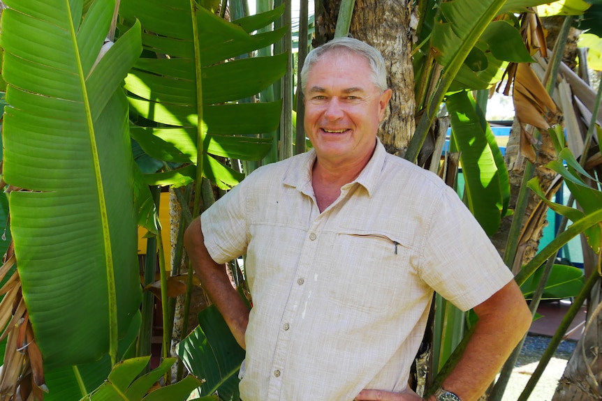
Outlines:
<svg viewBox="0 0 602 401"><path fill-rule="evenodd" d="M386 154L387 151L385 150L385 146L383 146L381 140L377 137L376 147L372 154L372 158L370 158L367 165L362 169L360 175L358 175L355 180L351 181L351 183L343 186L343 188L358 183L360 186L366 188L369 196L372 196L372 193L374 193L374 190L376 189L376 185L379 183L381 171L385 164ZM315 161L316 151L314 151L314 149L310 149L306 153L299 155L298 159L289 165L288 171L284 176L284 185L297 188L300 192L306 194L313 194L314 190L311 188L311 169L314 166Z"/></svg>

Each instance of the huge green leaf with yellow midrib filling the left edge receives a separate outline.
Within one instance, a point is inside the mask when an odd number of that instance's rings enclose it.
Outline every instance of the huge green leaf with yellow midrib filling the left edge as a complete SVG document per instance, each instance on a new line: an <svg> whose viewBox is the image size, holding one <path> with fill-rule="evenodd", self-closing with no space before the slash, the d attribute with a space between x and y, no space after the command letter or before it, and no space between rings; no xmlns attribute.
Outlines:
<svg viewBox="0 0 602 401"><path fill-rule="evenodd" d="M114 0L7 0L4 179L23 296L47 369L109 352L140 303L128 105L140 26L97 62Z"/></svg>

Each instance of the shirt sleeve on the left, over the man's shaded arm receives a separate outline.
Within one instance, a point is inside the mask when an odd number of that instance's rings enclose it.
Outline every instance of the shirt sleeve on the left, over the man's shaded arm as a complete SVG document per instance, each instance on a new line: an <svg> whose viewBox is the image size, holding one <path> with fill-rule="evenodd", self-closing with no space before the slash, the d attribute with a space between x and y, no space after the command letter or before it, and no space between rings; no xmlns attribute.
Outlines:
<svg viewBox="0 0 602 401"><path fill-rule="evenodd" d="M229 262L247 252L247 180L249 177L200 215L205 247L216 263Z"/></svg>

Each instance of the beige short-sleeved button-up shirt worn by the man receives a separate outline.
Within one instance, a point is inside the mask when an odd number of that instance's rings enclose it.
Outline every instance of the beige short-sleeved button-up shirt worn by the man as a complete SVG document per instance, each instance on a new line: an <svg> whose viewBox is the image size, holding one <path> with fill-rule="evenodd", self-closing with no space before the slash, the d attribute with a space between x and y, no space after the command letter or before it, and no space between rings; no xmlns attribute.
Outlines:
<svg viewBox="0 0 602 401"><path fill-rule="evenodd" d="M402 391L433 291L469 310L513 275L457 194L377 141L322 213L314 151L249 174L201 216L218 263L246 254L244 401Z"/></svg>

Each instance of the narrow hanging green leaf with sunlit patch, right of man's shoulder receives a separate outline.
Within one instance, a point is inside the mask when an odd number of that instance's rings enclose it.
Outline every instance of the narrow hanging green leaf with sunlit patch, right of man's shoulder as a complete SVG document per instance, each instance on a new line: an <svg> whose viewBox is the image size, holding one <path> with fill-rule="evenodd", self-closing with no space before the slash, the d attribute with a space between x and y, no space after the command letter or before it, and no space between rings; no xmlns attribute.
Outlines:
<svg viewBox="0 0 602 401"><path fill-rule="evenodd" d="M467 92L448 96L452 140L460 151L468 206L488 235L499 228L510 197L508 172L489 126L485 129Z"/></svg>

